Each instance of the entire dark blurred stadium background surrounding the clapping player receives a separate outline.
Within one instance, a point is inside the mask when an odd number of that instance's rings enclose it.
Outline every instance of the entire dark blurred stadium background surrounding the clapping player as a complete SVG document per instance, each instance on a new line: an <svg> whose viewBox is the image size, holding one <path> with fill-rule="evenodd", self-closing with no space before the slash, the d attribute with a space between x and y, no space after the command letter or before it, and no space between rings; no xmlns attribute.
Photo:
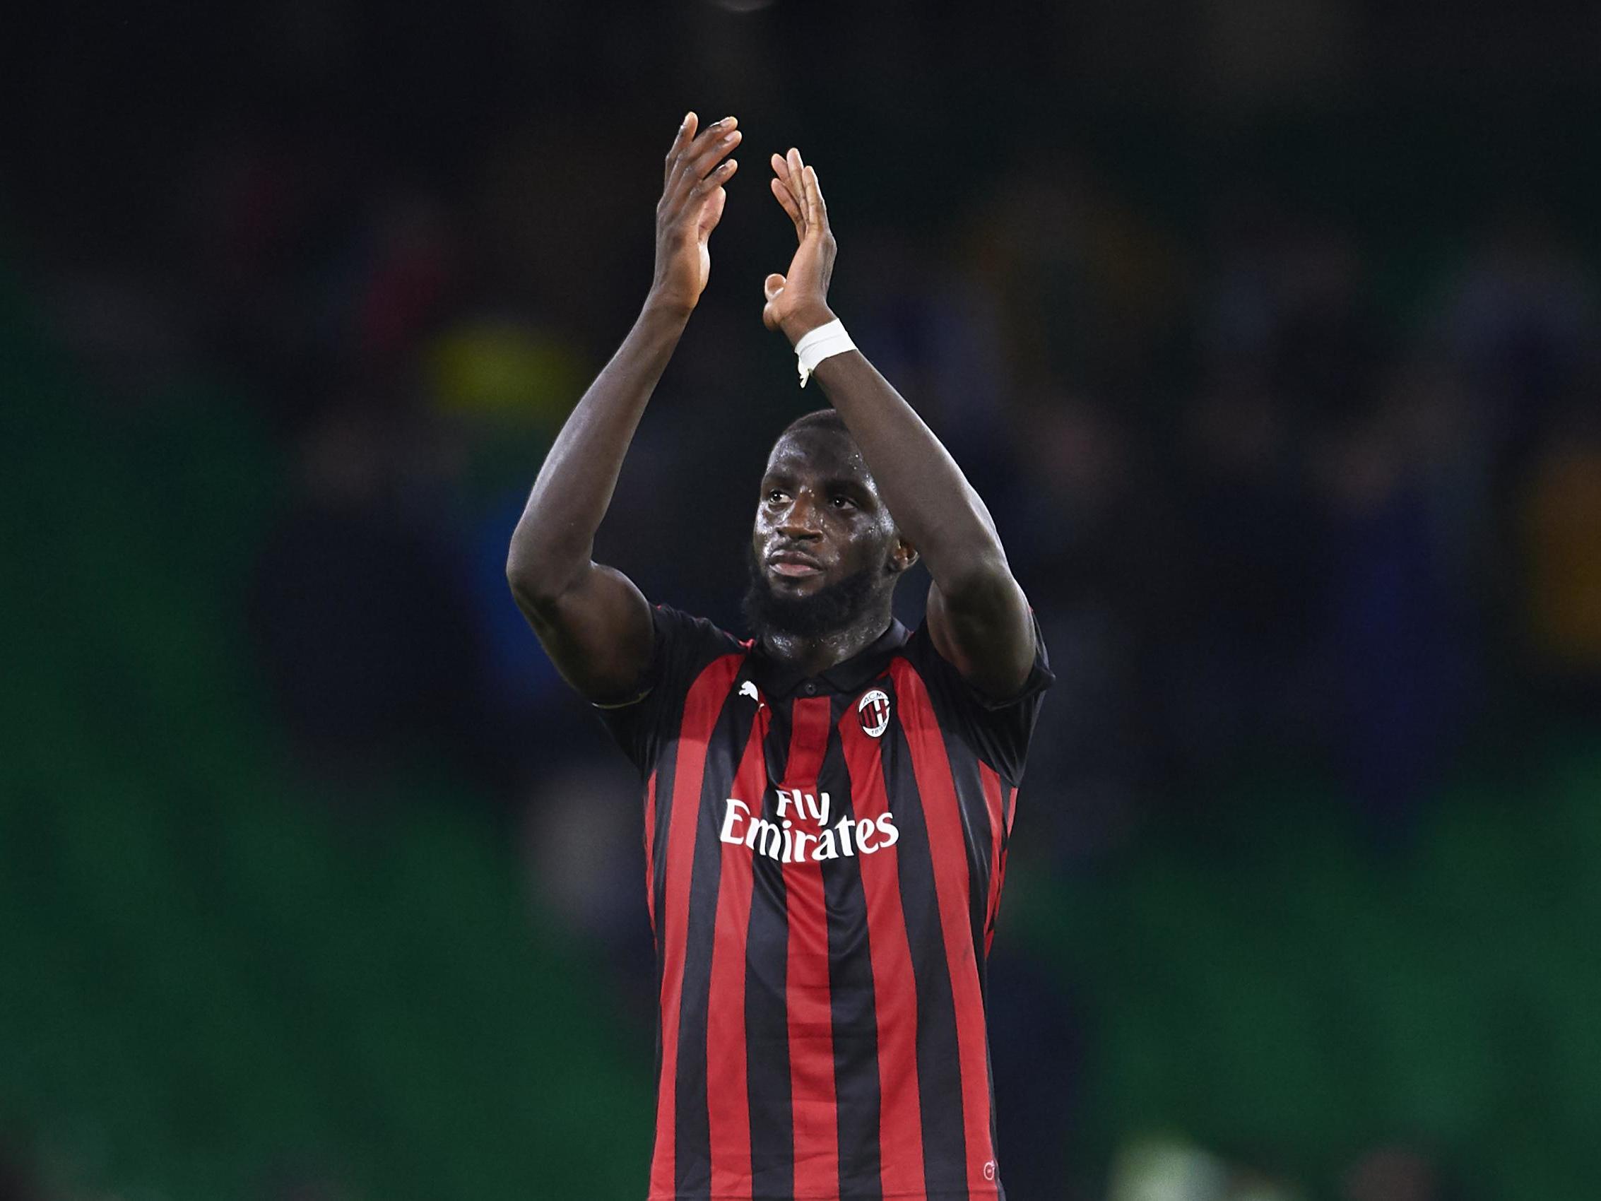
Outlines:
<svg viewBox="0 0 1601 1201"><path fill-rule="evenodd" d="M24 21L0 1198L642 1195L637 797L503 562L687 107L743 170L599 549L738 628L799 144L1060 677L1013 1201L1601 1195L1595 5Z"/></svg>

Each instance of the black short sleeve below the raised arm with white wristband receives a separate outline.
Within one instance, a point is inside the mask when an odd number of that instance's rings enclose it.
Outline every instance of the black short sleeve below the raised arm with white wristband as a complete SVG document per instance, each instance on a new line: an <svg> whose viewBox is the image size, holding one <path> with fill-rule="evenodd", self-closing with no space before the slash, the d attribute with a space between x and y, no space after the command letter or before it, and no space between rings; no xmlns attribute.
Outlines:
<svg viewBox="0 0 1601 1201"><path fill-rule="evenodd" d="M1028 745L1034 737L1034 722L1039 721L1045 689L1057 679L1050 671L1039 615L1029 610L1029 618L1034 625L1034 661L1023 689L1002 701L983 695L962 679L951 661L935 649L927 618L906 639L905 647L906 658L929 687L940 724L964 738L980 759L1013 786L1023 778L1023 764L1028 759Z"/></svg>

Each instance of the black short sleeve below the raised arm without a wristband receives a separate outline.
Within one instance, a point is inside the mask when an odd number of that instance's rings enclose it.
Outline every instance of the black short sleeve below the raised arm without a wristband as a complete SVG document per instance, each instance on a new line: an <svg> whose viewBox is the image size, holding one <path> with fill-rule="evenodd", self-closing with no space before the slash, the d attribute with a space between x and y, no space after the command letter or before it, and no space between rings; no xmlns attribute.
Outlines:
<svg viewBox="0 0 1601 1201"><path fill-rule="evenodd" d="M652 605L650 620L655 629L650 663L639 679L636 697L592 706L640 775L650 775L656 765L656 756L677 727L684 697L701 668L719 655L744 649L733 634L672 605Z"/></svg>

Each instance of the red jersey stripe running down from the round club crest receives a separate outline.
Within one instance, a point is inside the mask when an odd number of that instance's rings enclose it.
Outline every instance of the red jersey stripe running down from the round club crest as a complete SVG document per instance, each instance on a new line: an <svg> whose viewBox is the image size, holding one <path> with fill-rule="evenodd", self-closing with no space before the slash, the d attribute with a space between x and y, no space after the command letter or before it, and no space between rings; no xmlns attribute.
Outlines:
<svg viewBox="0 0 1601 1201"><path fill-rule="evenodd" d="M881 743L861 732L855 708L845 706L839 722L845 769L850 773L850 807L858 821L876 821L890 812L884 793ZM879 837L884 841L882 833ZM879 1052L879 1179L884 1196L919 1196L927 1191L922 1169L922 1111L917 1089L917 990L900 903L900 844L881 846L857 862L866 905L868 954L873 964L873 1001Z"/></svg>

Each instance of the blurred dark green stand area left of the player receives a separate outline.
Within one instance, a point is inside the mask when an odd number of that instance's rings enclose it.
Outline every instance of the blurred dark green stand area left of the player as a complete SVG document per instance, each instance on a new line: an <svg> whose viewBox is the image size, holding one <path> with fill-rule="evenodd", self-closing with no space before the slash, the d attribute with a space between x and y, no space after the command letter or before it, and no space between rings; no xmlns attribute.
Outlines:
<svg viewBox="0 0 1601 1201"><path fill-rule="evenodd" d="M487 807L419 762L368 820L299 778L242 645L277 464L227 397L138 413L3 299L13 520L0 1131L46 1185L623 1196L648 1046L530 921ZM21 586L18 586L21 584ZM54 1166L54 1169L51 1169ZM142 1191L141 1191L142 1190ZM554 1191L552 1191L554 1190ZM74 1193L75 1195L75 1193Z"/></svg>

